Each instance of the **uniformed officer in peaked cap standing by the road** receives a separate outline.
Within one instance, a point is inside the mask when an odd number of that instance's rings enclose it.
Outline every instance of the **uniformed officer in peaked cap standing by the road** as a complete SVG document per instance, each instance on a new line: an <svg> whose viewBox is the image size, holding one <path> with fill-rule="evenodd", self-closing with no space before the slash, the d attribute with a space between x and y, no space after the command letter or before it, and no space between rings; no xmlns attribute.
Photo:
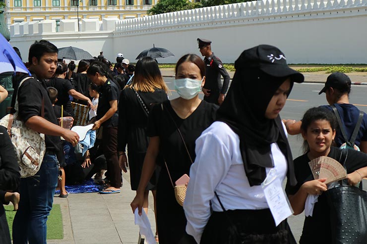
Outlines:
<svg viewBox="0 0 367 244"><path fill-rule="evenodd" d="M222 104L224 95L228 90L230 76L227 70L223 67L222 61L214 56L211 49L212 42L206 39L197 39L201 55L205 56L204 63L205 71L205 85L203 87L204 100L215 104ZM221 82L223 76L223 85Z"/></svg>

